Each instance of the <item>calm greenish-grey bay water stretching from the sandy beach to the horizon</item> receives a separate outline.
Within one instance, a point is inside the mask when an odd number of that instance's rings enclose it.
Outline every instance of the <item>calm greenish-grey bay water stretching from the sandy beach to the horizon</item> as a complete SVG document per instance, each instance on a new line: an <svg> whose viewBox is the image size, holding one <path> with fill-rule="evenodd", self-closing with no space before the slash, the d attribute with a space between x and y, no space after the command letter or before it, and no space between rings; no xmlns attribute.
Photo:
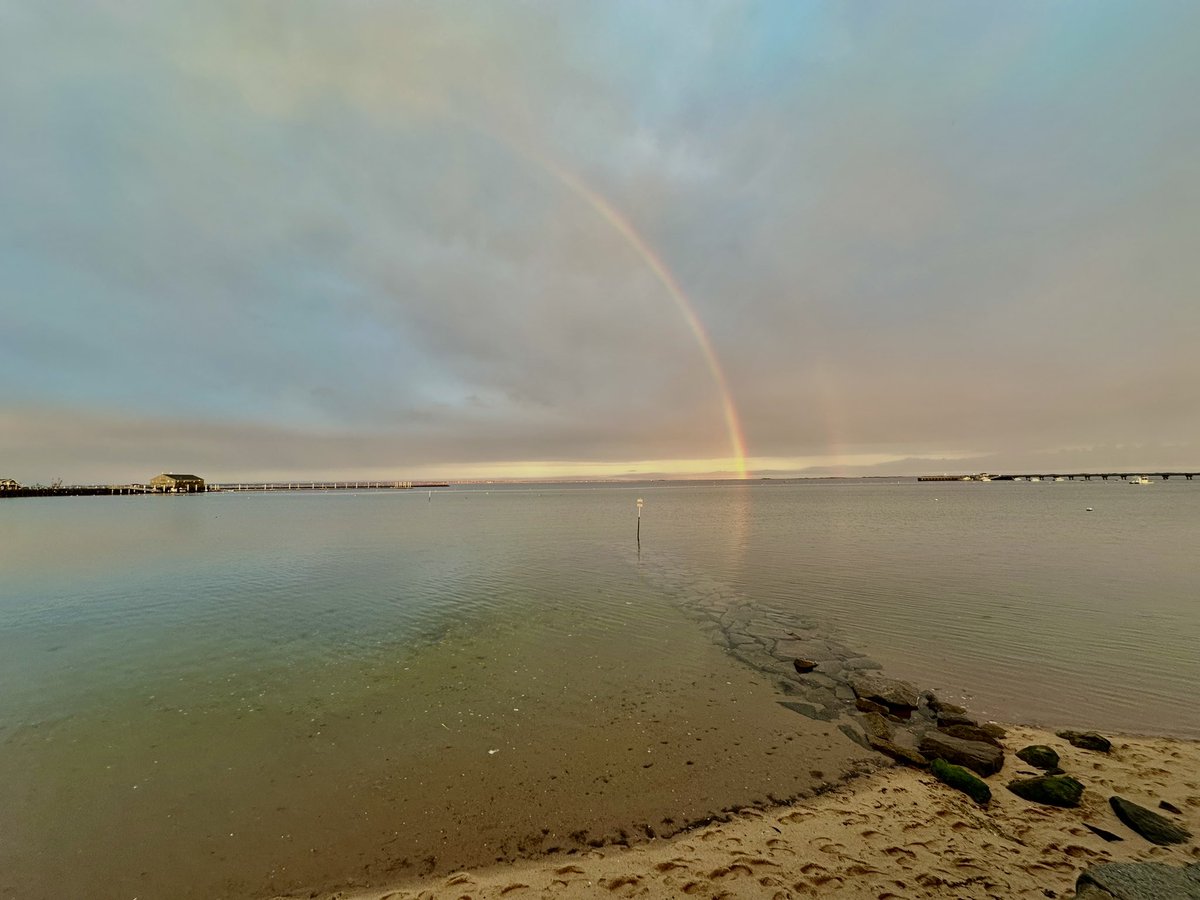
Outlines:
<svg viewBox="0 0 1200 900"><path fill-rule="evenodd" d="M184 895L164 888L178 877L239 895L359 846L376 878L389 841L419 870L463 818L379 797L520 806L553 794L547 755L577 779L724 716L688 706L737 677L679 608L694 578L823 620L988 716L1196 738L1198 535L1200 485L1183 481L6 500L0 890ZM647 746L598 743L614 724ZM547 808L581 799L564 779ZM620 791L638 792L595 802ZM499 856L541 846L500 847L502 824ZM268 834L286 847L275 880L240 880ZM110 893L89 882L106 859Z"/></svg>

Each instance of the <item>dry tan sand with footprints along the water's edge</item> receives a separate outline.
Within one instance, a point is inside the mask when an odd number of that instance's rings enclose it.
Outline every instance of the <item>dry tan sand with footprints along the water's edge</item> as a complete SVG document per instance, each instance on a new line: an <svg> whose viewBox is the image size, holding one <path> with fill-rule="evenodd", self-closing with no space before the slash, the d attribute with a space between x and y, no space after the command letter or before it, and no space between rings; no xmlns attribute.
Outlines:
<svg viewBox="0 0 1200 900"><path fill-rule="evenodd" d="M1070 898L1079 874L1106 862L1200 860L1195 840L1156 846L1109 806L1121 794L1200 834L1200 743L1110 736L1111 754L1051 731L1012 726L986 809L928 772L886 766L818 797L744 810L665 840L559 853L510 865L337 893L344 900L418 898ZM1085 785L1075 809L1020 799L1004 785L1037 774L1012 751L1045 744ZM882 758L882 757L881 757ZM1085 823L1118 835L1108 842Z"/></svg>

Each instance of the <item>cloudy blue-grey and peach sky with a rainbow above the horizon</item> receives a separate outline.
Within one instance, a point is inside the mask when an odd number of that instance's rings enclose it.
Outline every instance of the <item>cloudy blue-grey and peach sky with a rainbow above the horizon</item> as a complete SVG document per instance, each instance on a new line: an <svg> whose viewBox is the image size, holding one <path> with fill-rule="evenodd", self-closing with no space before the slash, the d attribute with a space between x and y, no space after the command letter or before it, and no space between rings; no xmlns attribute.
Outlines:
<svg viewBox="0 0 1200 900"><path fill-rule="evenodd" d="M0 478L1200 469L1198 35L0 0Z"/></svg>

